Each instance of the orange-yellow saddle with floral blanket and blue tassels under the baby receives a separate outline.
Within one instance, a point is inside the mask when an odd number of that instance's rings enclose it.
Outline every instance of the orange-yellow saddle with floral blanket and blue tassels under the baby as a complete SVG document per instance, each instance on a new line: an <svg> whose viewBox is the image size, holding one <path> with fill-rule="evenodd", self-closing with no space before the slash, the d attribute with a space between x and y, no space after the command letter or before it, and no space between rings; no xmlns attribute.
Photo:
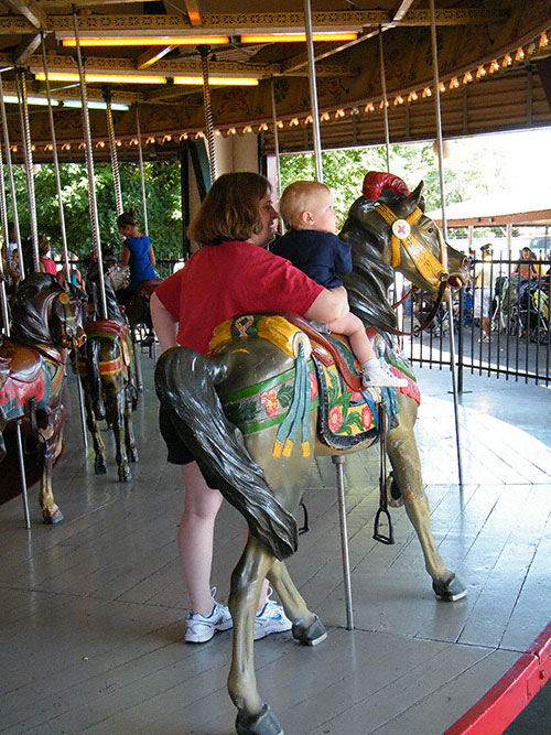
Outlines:
<svg viewBox="0 0 551 735"><path fill-rule="evenodd" d="M326 338L309 322L285 314L244 314L215 329L212 353L235 338L261 337L294 358L294 370L277 386L222 398L228 418L245 434L278 425L274 456L289 456L300 433L302 453L310 454L307 417L320 407L317 435L336 451L369 445L378 436L379 389L365 390L355 376L355 358L345 338Z"/></svg>

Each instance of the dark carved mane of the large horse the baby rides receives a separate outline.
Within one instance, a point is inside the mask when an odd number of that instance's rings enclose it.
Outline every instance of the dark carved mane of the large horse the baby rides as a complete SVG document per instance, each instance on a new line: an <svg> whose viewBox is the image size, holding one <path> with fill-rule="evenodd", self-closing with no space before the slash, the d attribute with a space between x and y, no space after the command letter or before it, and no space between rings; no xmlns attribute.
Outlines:
<svg viewBox="0 0 551 735"><path fill-rule="evenodd" d="M385 326L396 328L397 318L388 301L393 269L383 262L390 228L376 213L376 203L383 202L392 208L403 198L403 194L388 186L380 191L376 201L366 196L358 197L338 235L352 248L353 271L342 277L348 292L350 311L359 316L366 326L375 326L378 331Z"/></svg>

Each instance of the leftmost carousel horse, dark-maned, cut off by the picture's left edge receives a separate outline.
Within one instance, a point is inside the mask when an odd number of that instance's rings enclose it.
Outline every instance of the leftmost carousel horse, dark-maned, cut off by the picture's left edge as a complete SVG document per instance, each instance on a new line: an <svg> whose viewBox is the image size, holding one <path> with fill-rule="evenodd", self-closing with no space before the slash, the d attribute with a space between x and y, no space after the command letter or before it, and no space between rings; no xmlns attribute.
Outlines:
<svg viewBox="0 0 551 735"><path fill-rule="evenodd" d="M10 301L11 335L0 344L0 462L6 456L4 429L21 421L23 434L39 439L39 501L45 523L63 520L52 473L62 452L65 358L86 339L85 303L86 294L77 287L62 289L55 277L33 273ZM13 454L8 454L10 464L17 462Z"/></svg>

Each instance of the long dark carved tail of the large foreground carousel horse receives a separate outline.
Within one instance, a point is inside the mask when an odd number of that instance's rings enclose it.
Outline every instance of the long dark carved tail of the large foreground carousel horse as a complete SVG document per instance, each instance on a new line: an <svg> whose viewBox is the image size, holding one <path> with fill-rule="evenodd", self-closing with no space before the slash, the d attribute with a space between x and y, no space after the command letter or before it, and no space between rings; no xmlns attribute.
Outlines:
<svg viewBox="0 0 551 735"><path fill-rule="evenodd" d="M277 500L241 432L224 413L215 386L226 372L222 359L173 347L158 361L156 394L207 483L239 510L252 536L277 559L285 559L296 551L296 521Z"/></svg>

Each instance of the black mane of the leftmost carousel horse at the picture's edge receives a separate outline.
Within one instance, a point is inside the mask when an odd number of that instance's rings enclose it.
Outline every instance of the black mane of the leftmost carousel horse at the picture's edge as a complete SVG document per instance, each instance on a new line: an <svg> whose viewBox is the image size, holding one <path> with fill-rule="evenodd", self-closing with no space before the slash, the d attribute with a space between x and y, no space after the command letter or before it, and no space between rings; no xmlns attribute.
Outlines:
<svg viewBox="0 0 551 735"><path fill-rule="evenodd" d="M31 273L19 284L10 301L10 339L21 344L51 345L48 315L50 302L63 289L55 275Z"/></svg>

